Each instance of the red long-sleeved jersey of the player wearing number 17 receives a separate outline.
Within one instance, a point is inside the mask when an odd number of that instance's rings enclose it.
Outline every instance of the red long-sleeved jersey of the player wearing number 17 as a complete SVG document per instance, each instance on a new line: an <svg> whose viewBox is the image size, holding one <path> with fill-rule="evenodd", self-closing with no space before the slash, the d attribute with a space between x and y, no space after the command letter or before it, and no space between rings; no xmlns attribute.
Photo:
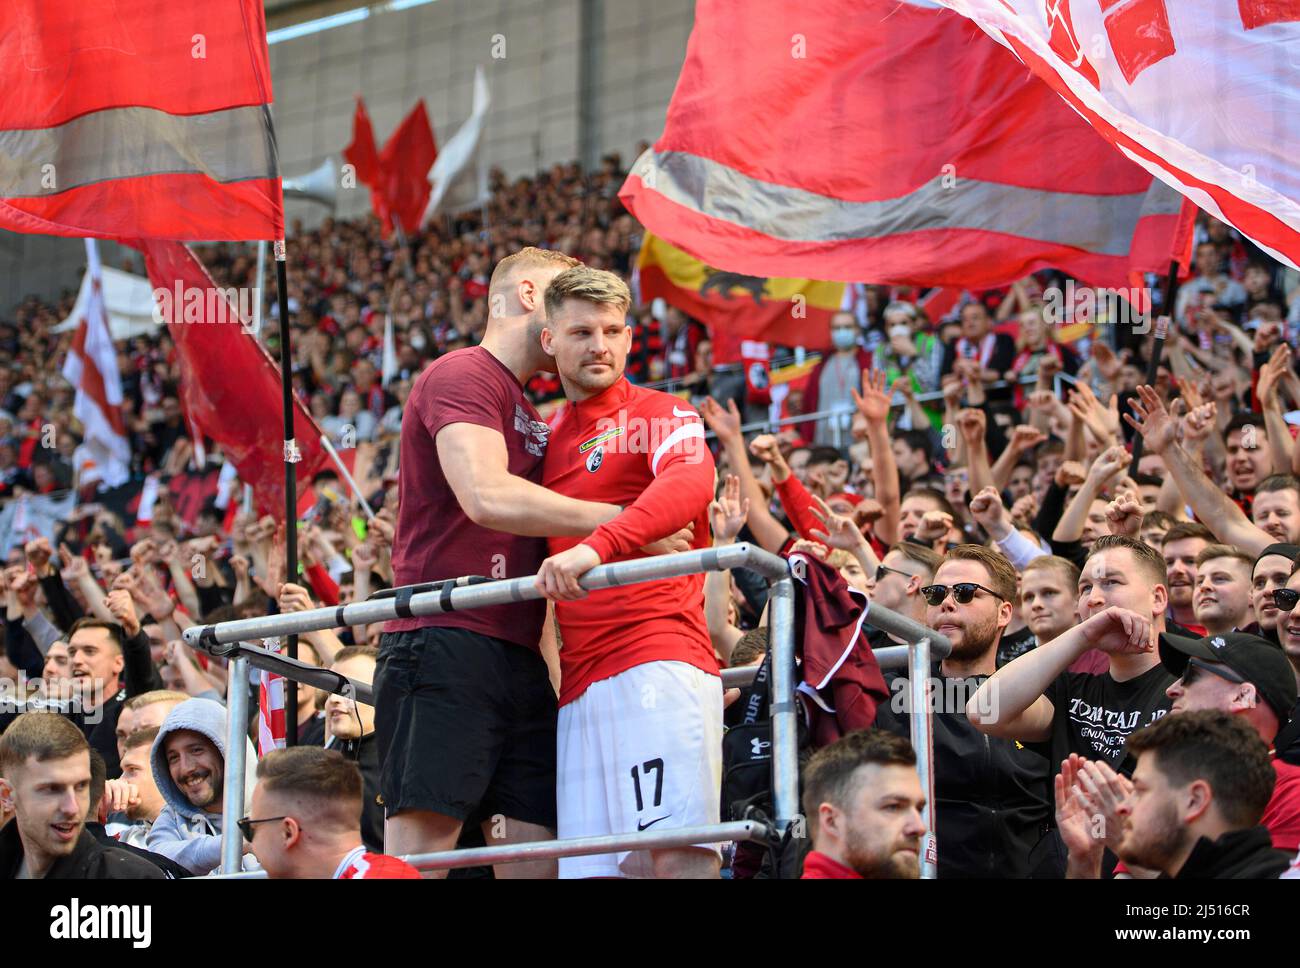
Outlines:
<svg viewBox="0 0 1300 968"><path fill-rule="evenodd" d="M586 538L550 538L552 555L581 543L606 564L646 557L642 546L692 522L692 547L711 543L714 459L699 414L681 398L620 378L590 400L571 403L551 430L542 479L566 496L623 507ZM703 574L594 591L556 603L555 616L560 706L644 663L681 661L718 674Z"/></svg>

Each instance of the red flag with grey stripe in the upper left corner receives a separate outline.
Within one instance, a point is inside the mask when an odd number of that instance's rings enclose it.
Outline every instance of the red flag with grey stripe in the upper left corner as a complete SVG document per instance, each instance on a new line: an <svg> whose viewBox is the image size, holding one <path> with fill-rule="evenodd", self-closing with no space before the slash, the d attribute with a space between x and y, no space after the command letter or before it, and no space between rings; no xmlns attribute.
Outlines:
<svg viewBox="0 0 1300 968"><path fill-rule="evenodd" d="M0 227L281 239L261 0L8 0Z"/></svg>

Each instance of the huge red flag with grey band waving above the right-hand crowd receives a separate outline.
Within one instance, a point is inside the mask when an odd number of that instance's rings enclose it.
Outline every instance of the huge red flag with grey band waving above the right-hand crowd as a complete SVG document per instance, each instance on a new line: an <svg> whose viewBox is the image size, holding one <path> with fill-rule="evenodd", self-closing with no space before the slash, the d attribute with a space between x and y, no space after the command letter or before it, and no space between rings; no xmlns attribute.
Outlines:
<svg viewBox="0 0 1300 968"><path fill-rule="evenodd" d="M970 21L897 0L753 6L696 5L663 136L620 194L650 231L755 277L979 290L1167 269L1178 194Z"/></svg>

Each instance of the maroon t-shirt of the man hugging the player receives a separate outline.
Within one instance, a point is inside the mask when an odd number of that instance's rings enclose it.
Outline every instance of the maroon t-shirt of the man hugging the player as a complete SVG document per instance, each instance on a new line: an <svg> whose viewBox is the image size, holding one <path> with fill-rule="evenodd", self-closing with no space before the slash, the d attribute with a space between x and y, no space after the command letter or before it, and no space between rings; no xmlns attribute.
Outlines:
<svg viewBox="0 0 1300 968"><path fill-rule="evenodd" d="M550 427L524 396L515 374L482 347L456 350L434 360L416 379L402 420L402 474L398 525L393 538L396 585L482 574L517 578L536 574L546 557L545 538L493 531L471 521L442 473L436 438L450 424L477 424L506 438L508 470L542 482ZM468 629L537 648L546 602L394 618L385 631L428 625Z"/></svg>

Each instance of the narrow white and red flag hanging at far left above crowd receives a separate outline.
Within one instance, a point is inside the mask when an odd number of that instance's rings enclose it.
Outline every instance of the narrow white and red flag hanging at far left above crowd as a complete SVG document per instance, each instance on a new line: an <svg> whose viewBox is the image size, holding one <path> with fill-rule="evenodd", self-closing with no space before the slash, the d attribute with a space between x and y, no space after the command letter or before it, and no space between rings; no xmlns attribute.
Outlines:
<svg viewBox="0 0 1300 968"><path fill-rule="evenodd" d="M104 275L94 239L86 239L86 278L82 285L88 287L83 303L86 314L77 324L73 344L64 360L64 379L77 390L73 413L81 421L84 431L82 446L90 456L83 481L118 487L131 476L131 446L122 422L122 379L113 337L108 330Z"/></svg>

